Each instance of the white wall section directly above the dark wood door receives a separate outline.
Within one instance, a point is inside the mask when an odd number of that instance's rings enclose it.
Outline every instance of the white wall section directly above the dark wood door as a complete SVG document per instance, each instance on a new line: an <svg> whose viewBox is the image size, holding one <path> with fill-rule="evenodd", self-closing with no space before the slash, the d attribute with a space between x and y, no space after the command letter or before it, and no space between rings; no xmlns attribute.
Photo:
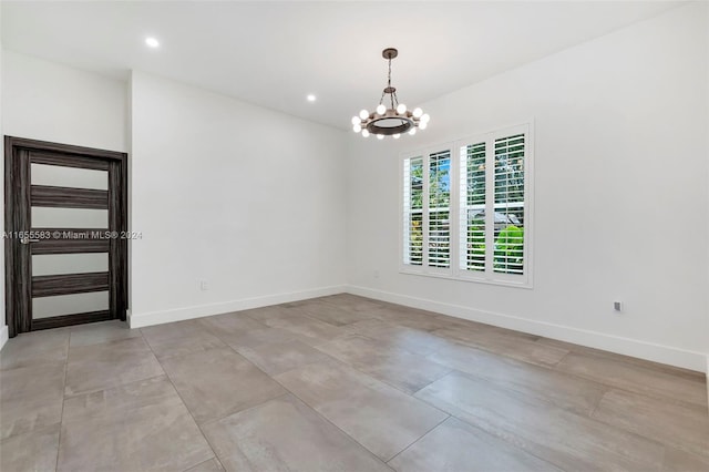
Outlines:
<svg viewBox="0 0 709 472"><path fill-rule="evenodd" d="M2 93L7 135L127 151L123 81L3 51Z"/></svg>

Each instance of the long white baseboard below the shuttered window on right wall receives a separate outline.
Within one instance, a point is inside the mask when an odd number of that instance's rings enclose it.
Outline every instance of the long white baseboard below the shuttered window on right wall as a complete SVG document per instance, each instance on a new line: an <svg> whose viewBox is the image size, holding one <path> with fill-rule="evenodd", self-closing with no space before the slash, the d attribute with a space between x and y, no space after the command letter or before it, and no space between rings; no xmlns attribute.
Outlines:
<svg viewBox="0 0 709 472"><path fill-rule="evenodd" d="M456 318L463 318L471 321L479 321L486 325L499 326L501 328L524 331L531 335L558 339L561 341L573 342L575 345L586 346L589 348L602 349L605 351L631 356L654 362L681 367L698 372L707 372L709 380L709 356L706 352L690 351L686 349L674 348L670 346L656 345L637 339L624 338L620 336L613 336L604 332L589 331L585 329L572 328L568 326L537 321L512 315L476 310L460 305L443 304L424 298L374 290L367 287L348 285L346 286L346 289L350 294L374 298L377 300L405 305L408 307L420 308L429 311L435 311Z"/></svg>

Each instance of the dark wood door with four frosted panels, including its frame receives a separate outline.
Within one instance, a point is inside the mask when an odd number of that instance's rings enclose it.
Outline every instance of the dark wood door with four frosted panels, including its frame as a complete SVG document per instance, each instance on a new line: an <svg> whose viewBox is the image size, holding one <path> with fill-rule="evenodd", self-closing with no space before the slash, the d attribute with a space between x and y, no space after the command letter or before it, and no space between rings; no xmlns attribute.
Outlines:
<svg viewBox="0 0 709 472"><path fill-rule="evenodd" d="M127 309L127 155L6 136L6 314L20 332Z"/></svg>

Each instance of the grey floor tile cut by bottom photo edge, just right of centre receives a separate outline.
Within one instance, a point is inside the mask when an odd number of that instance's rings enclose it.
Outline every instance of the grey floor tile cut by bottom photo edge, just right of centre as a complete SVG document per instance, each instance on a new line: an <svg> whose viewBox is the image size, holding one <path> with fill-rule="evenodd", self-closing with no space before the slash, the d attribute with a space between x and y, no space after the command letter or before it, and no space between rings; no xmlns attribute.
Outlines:
<svg viewBox="0 0 709 472"><path fill-rule="evenodd" d="M438 425L389 461L389 465L400 472L561 472L551 463L455 418Z"/></svg>

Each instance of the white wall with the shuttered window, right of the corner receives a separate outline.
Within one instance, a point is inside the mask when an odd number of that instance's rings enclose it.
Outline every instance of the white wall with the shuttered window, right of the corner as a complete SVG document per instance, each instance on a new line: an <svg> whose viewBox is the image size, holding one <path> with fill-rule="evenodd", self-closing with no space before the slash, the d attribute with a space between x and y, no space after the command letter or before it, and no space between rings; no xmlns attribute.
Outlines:
<svg viewBox="0 0 709 472"><path fill-rule="evenodd" d="M432 120L417 136L350 133L350 289L705 370L706 9L672 10L421 104ZM534 288L399 274L399 153L530 117Z"/></svg>

